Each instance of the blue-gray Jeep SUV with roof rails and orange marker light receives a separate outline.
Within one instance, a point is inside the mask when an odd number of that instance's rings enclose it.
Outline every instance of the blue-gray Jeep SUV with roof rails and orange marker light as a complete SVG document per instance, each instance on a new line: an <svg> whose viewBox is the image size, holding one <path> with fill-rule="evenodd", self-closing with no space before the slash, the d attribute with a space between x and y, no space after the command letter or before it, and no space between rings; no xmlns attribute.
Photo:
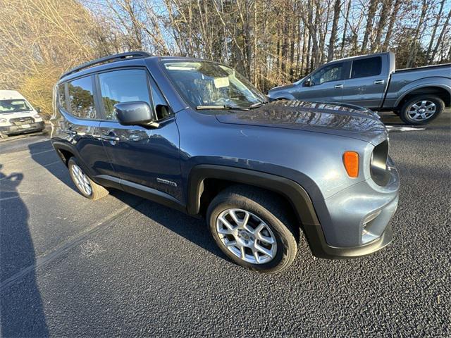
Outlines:
<svg viewBox="0 0 451 338"><path fill-rule="evenodd" d="M236 263L282 270L305 237L350 258L392 240L399 177L371 111L269 102L232 68L144 52L64 74L51 142L89 199L122 189L206 218Z"/></svg>

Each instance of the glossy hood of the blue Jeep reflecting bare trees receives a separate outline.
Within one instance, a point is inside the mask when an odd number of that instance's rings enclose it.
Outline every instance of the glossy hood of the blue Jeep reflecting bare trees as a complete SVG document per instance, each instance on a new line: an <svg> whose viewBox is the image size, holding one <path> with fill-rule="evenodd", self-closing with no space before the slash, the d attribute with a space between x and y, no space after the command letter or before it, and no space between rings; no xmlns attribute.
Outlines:
<svg viewBox="0 0 451 338"><path fill-rule="evenodd" d="M248 111L215 111L220 123L323 132L361 139L377 145L388 137L378 115L347 104L273 101Z"/></svg>

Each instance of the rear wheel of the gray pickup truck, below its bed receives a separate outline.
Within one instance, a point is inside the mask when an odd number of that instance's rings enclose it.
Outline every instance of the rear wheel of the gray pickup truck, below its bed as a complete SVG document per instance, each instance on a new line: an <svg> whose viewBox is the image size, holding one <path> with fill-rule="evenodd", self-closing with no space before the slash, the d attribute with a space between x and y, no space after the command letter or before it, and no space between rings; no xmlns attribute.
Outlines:
<svg viewBox="0 0 451 338"><path fill-rule="evenodd" d="M407 125L426 125L437 118L445 108L445 103L438 96L416 96L401 108L400 118Z"/></svg>

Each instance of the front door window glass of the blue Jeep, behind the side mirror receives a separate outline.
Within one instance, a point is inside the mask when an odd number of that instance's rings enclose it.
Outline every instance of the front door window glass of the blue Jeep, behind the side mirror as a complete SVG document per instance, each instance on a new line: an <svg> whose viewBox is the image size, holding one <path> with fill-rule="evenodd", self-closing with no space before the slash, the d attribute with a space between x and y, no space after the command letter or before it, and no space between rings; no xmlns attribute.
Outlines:
<svg viewBox="0 0 451 338"><path fill-rule="evenodd" d="M151 105L145 70L126 69L101 73L99 81L105 115L109 120L116 120L113 106L119 102L144 101Z"/></svg>

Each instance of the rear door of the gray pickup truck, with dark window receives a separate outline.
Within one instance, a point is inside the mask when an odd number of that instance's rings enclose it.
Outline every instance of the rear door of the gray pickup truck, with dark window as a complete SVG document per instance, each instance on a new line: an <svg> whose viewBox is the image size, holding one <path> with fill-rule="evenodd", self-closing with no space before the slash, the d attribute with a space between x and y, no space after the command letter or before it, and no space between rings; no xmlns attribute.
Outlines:
<svg viewBox="0 0 451 338"><path fill-rule="evenodd" d="M388 84L388 69L383 68L381 56L352 61L350 78L343 84L342 102L366 108L380 107Z"/></svg>

